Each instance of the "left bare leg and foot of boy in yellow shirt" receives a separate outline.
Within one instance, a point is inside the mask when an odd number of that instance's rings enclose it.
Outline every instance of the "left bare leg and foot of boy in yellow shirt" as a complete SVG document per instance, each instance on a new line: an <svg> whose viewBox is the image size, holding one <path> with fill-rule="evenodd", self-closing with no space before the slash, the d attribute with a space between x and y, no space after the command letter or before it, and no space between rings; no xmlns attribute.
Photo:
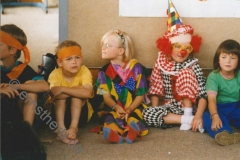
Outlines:
<svg viewBox="0 0 240 160"><path fill-rule="evenodd" d="M68 132L64 124L64 115L66 110L66 99L59 99L55 101L55 114L56 121L58 124L58 129L55 131L57 133L57 140L62 141L66 144L75 144L77 142L68 138Z"/></svg>

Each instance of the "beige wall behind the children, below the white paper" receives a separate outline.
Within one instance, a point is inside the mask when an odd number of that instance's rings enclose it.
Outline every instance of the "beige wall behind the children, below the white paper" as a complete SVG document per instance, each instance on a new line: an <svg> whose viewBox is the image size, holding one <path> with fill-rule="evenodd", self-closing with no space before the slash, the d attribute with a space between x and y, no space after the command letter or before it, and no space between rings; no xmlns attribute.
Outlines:
<svg viewBox="0 0 240 160"><path fill-rule="evenodd" d="M101 67L101 37L111 29L127 32L134 43L135 58L146 67L152 67L158 49L156 40L166 31L167 18L119 17L118 0L71 0L68 6L68 37L82 46L84 64ZM181 14L181 13L180 13ZM203 38L196 54L202 68L212 68L212 59L218 45L226 39L240 41L239 18L185 18L194 34Z"/></svg>

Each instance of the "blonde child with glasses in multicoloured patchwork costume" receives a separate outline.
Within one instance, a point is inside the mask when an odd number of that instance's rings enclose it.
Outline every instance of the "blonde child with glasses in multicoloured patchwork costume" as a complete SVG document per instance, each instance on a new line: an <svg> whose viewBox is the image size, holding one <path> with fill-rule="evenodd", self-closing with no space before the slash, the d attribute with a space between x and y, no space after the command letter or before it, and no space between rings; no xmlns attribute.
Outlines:
<svg viewBox="0 0 240 160"><path fill-rule="evenodd" d="M103 136L113 143L132 143L148 133L143 121L143 103L148 91L147 70L133 59L133 44L127 33L111 30L102 37L103 66L96 82L97 94L104 104L98 112L104 123Z"/></svg>

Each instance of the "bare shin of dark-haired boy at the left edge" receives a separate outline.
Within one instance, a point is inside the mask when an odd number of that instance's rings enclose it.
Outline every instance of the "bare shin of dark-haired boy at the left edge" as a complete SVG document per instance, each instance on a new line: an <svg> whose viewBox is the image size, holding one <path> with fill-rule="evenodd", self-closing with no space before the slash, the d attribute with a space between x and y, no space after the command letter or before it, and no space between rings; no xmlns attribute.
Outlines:
<svg viewBox="0 0 240 160"><path fill-rule="evenodd" d="M28 93L23 104L23 120L33 125L35 109L37 107L37 94Z"/></svg>

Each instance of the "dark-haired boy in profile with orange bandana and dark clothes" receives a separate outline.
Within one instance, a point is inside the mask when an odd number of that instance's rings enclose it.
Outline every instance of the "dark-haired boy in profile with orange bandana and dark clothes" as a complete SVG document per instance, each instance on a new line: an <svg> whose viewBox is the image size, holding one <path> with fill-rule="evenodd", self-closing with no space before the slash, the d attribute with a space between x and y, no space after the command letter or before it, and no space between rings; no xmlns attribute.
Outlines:
<svg viewBox="0 0 240 160"><path fill-rule="evenodd" d="M14 24L1 26L0 30L0 49L1 49L1 121L27 121L33 125L35 116L35 103L37 102L37 93L47 92L48 83L42 76L28 65L30 53L26 46L27 37L22 29ZM24 53L24 62L18 61L21 52ZM27 93L25 97L32 101L23 102L22 111L20 111L19 100L24 100L20 94L21 91ZM23 114L21 113L23 112Z"/></svg>

